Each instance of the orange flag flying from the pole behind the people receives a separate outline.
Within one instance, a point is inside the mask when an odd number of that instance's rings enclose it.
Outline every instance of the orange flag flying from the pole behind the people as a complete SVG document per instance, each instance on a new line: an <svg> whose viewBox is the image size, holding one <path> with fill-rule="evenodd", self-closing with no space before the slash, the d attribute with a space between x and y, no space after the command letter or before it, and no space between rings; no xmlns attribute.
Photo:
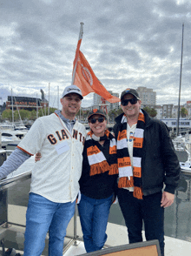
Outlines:
<svg viewBox="0 0 191 256"><path fill-rule="evenodd" d="M82 51L79 50L81 42L78 41L78 43L76 57L74 60L74 69L76 66L76 74L73 84L76 84L76 86L81 89L82 96L86 96L89 92L95 92L110 103L120 102L120 99L112 96L109 91L105 89L100 80L95 77L94 71L92 71L88 61L82 54Z"/></svg>

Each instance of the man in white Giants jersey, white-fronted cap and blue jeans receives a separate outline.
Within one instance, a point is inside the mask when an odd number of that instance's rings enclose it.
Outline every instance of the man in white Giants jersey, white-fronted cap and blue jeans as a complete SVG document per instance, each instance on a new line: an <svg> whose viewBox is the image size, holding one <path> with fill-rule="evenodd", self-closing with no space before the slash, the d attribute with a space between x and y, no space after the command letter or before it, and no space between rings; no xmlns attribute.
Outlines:
<svg viewBox="0 0 191 256"><path fill-rule="evenodd" d="M49 255L63 256L63 240L75 212L82 172L85 127L76 120L82 91L70 85L63 91L62 111L37 118L16 150L0 167L0 179L31 155L41 152L32 170L26 213L24 256L40 256L49 231Z"/></svg>

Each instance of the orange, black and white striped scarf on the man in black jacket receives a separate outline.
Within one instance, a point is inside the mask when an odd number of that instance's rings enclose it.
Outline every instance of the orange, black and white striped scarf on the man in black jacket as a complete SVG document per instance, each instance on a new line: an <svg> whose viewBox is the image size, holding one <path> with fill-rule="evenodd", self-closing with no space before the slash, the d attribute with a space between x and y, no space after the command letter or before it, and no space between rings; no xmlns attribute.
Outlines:
<svg viewBox="0 0 191 256"><path fill-rule="evenodd" d="M117 137L117 161L119 168L118 187L133 187L134 197L142 199L142 144L145 128L145 118L142 111L135 128L133 145L133 168L131 166L127 144L127 118L124 115ZM133 169L133 170L132 170Z"/></svg>

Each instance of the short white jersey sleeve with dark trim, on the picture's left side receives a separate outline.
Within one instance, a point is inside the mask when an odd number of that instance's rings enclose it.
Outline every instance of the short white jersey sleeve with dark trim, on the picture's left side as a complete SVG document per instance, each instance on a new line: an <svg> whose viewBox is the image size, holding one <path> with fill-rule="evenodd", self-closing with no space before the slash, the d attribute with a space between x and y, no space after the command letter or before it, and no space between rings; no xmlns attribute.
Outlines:
<svg viewBox="0 0 191 256"><path fill-rule="evenodd" d="M37 118L35 123L30 127L30 131L24 136L17 148L30 154L30 156L39 152L46 138L45 125L42 118Z"/></svg>

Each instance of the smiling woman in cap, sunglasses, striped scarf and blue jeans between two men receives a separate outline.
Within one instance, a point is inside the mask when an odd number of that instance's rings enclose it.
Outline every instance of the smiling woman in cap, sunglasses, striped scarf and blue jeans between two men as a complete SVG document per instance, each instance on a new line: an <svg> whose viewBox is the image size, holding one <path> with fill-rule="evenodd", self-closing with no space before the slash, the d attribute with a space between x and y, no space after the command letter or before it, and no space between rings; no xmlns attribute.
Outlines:
<svg viewBox="0 0 191 256"><path fill-rule="evenodd" d="M106 129L107 119L97 109L88 115L87 135L79 181L78 212L87 253L101 250L107 239L109 209L117 190L117 157L114 136Z"/></svg>

